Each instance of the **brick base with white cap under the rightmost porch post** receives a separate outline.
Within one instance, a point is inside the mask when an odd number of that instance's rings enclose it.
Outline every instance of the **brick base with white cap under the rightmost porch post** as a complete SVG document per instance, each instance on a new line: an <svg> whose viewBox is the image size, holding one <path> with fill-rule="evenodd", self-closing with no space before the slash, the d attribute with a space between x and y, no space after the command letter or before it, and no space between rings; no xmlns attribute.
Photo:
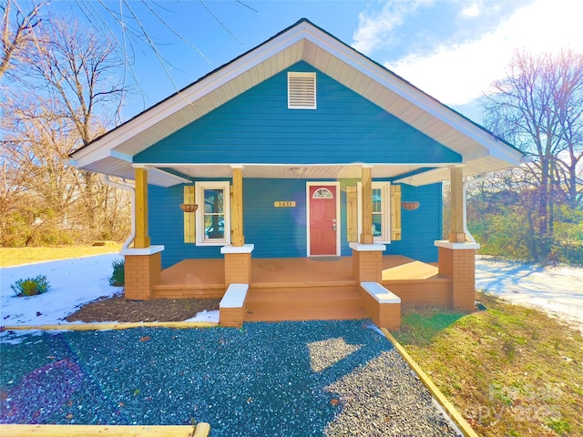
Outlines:
<svg viewBox="0 0 583 437"><path fill-rule="evenodd" d="M439 274L452 279L452 307L473 311L476 302L477 243L435 241L439 248Z"/></svg>

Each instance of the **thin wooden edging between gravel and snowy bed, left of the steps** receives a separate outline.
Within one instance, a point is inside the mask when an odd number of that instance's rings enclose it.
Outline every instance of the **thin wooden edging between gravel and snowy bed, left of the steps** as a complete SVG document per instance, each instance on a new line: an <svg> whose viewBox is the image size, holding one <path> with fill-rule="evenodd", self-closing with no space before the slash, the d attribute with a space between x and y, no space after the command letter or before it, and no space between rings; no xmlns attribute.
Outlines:
<svg viewBox="0 0 583 437"><path fill-rule="evenodd" d="M13 325L2 330L128 330L131 328L215 328L216 321L138 321L128 323L71 323L63 325Z"/></svg>

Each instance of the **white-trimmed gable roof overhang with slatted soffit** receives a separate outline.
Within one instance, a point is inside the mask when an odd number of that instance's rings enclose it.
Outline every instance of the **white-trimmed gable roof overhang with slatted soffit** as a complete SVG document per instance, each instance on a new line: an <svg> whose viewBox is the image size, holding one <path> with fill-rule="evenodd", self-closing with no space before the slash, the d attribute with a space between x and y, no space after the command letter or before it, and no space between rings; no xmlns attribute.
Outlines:
<svg viewBox="0 0 583 437"><path fill-rule="evenodd" d="M133 178L133 156L302 60L459 153L465 163L465 176L520 163L523 155L515 147L302 19L79 148L71 154L73 164L97 173ZM404 174L415 169L399 171ZM377 178L384 176L380 168L375 173ZM448 168L431 168L403 180L424 185L448 178ZM150 171L148 180L167 187L186 181L163 170Z"/></svg>

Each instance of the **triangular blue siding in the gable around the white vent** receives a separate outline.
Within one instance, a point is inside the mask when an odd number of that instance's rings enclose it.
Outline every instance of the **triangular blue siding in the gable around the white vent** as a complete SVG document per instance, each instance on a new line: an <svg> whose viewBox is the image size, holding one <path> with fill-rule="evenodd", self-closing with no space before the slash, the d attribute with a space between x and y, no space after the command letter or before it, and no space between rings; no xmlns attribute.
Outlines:
<svg viewBox="0 0 583 437"><path fill-rule="evenodd" d="M317 73L317 105L287 108L287 71ZM300 62L159 141L139 163L461 162L453 150Z"/></svg>

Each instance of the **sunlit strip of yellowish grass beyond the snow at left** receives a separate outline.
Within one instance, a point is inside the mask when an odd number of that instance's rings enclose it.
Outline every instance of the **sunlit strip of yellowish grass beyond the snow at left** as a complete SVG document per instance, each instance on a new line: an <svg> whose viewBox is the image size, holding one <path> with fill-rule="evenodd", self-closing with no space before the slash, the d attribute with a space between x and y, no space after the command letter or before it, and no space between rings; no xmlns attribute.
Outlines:
<svg viewBox="0 0 583 437"><path fill-rule="evenodd" d="M0 267L19 266L31 262L51 261L55 259L81 258L88 255L114 253L121 249L121 244L107 242L105 246L59 246L42 248L0 248Z"/></svg>

